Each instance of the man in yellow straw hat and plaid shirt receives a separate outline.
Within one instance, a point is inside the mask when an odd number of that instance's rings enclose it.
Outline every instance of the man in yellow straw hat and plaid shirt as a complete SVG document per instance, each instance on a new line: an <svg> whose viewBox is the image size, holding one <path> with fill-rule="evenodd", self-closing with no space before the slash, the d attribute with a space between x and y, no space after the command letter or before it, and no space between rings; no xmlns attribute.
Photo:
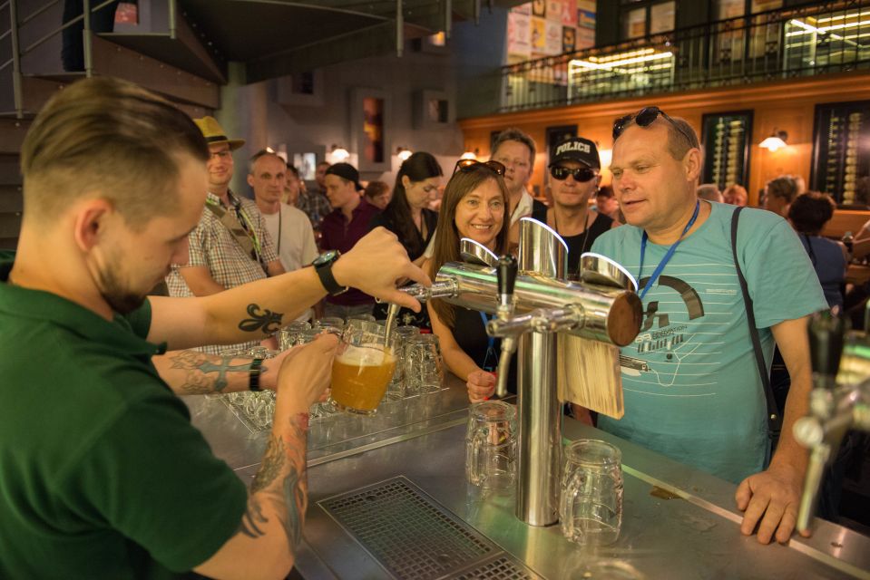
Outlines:
<svg viewBox="0 0 870 580"><path fill-rule="evenodd" d="M207 296L284 274L275 244L257 204L230 190L232 151L245 144L230 139L214 117L195 119L209 144L209 189L199 225L191 232L187 264L173 265L166 285L173 296ZM257 343L239 344L239 347ZM217 354L224 347L209 346Z"/></svg>

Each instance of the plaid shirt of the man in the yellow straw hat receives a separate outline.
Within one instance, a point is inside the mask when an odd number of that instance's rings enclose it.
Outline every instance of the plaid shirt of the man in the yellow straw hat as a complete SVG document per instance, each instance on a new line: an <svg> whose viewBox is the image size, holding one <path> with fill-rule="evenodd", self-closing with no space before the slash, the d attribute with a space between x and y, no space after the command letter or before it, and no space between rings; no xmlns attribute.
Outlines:
<svg viewBox="0 0 870 580"><path fill-rule="evenodd" d="M233 196L233 194L230 193L230 196ZM241 210L247 214L253 224L254 232L259 238L264 261L269 263L277 260L278 254L275 252L275 245L269 236L269 232L266 230L266 222L262 214L259 213L257 204L248 198L233 197L239 199ZM212 193L208 194L208 201L206 203L209 202L221 203L220 198ZM232 209L230 208L229 211L232 211ZM207 266L212 279L224 288L234 288L266 277L266 273L257 260L249 256L239 246L239 242L236 241L230 230L220 223L220 219L208 208L203 210L199 225L191 232L188 239L190 247L188 249L188 263L186 266ZM187 287L184 278L179 273L179 270L186 266L173 264L170 275L166 276L166 285L169 288L171 296L193 295L191 289ZM246 348L257 345L259 345L259 340L241 343L236 346ZM204 353L219 354L223 350L236 348L236 346L205 346L200 350Z"/></svg>

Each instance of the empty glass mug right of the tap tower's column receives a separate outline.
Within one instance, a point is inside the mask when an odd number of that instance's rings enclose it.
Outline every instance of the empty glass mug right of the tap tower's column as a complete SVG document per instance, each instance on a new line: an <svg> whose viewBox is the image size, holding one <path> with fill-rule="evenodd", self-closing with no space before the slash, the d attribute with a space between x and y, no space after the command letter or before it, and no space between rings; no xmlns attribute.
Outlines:
<svg viewBox="0 0 870 580"><path fill-rule="evenodd" d="M601 440L565 448L559 519L562 535L581 545L606 546L622 526L622 455Z"/></svg>

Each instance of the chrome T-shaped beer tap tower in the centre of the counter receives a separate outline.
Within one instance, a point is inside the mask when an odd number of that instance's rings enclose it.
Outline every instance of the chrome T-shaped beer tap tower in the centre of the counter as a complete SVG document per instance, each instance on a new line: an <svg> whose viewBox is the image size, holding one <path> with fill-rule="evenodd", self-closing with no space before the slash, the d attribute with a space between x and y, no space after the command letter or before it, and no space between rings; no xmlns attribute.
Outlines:
<svg viewBox="0 0 870 580"><path fill-rule="evenodd" d="M495 314L486 330L502 338L497 388L502 396L518 345L516 515L532 526L549 526L559 517L562 459L556 333L624 346L640 331L640 299L624 288L567 281L568 248L550 227L531 218L521 221L518 263L510 256L494 263L471 240L462 243L464 259L474 259L445 264L428 288L404 290L423 302L441 298Z"/></svg>

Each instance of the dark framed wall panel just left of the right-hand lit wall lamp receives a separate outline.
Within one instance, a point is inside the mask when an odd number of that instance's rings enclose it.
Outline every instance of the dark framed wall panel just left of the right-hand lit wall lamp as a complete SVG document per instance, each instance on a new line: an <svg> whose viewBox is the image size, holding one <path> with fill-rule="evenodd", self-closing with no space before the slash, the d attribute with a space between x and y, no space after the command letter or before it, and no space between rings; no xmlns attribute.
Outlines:
<svg viewBox="0 0 870 580"><path fill-rule="evenodd" d="M702 182L714 183L719 190L735 184L747 187L751 143L752 111L704 115L701 118Z"/></svg>

